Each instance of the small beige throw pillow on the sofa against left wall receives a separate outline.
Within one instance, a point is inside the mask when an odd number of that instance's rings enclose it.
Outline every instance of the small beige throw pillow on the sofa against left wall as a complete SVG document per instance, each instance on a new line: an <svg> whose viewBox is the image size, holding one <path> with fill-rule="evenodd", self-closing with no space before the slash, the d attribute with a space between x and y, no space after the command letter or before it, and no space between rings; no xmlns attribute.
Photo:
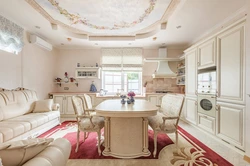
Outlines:
<svg viewBox="0 0 250 166"><path fill-rule="evenodd" d="M36 101L33 112L49 112L52 111L53 99Z"/></svg>

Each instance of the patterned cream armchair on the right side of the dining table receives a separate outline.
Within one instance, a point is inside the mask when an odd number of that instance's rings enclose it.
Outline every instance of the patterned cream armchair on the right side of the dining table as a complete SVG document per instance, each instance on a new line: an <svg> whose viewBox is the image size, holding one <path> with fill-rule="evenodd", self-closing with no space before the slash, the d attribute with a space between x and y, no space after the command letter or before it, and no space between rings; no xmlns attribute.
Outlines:
<svg viewBox="0 0 250 166"><path fill-rule="evenodd" d="M157 115L148 118L149 126L154 130L154 157L157 152L158 133L175 133L175 144L178 146L178 122L181 115L184 96L180 94L166 94Z"/></svg>

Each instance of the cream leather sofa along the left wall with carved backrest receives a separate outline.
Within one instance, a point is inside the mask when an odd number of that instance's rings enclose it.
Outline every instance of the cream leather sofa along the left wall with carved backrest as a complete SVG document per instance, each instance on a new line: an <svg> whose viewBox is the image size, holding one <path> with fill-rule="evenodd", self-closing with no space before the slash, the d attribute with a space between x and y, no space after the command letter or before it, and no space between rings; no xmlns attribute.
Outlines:
<svg viewBox="0 0 250 166"><path fill-rule="evenodd" d="M51 102L37 100L32 90L0 91L0 143L33 138L58 125L59 105Z"/></svg>

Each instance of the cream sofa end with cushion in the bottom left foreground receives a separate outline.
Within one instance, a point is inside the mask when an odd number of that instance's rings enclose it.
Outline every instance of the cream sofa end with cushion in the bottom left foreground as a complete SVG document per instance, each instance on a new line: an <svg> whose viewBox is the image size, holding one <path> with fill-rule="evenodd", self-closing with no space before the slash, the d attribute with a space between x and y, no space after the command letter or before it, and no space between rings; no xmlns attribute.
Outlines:
<svg viewBox="0 0 250 166"><path fill-rule="evenodd" d="M0 166L65 166L71 144L65 138L33 138L0 144Z"/></svg>

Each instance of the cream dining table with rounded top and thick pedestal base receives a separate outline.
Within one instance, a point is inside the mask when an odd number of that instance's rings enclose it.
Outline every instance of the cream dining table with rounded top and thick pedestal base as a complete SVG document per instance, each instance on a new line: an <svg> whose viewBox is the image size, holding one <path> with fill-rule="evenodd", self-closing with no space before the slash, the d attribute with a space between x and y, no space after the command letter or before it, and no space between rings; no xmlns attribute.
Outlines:
<svg viewBox="0 0 250 166"><path fill-rule="evenodd" d="M158 107L138 99L122 104L119 99L105 100L95 107L96 115L105 119L104 156L138 158L150 156L148 149L148 118Z"/></svg>

